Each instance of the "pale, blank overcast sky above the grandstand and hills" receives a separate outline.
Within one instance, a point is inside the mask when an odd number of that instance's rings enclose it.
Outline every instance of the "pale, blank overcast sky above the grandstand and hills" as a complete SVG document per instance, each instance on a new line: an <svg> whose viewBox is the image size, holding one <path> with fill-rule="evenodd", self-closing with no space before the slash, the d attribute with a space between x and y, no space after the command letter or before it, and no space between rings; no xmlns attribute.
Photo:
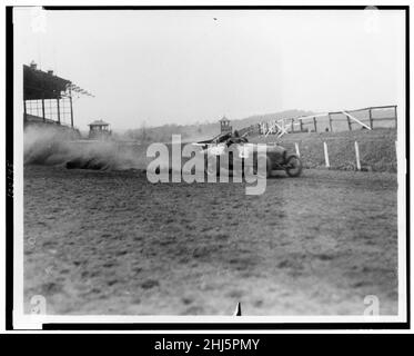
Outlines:
<svg viewBox="0 0 414 356"><path fill-rule="evenodd" d="M92 92L81 129L403 105L402 11L44 12L19 10L16 63Z"/></svg>

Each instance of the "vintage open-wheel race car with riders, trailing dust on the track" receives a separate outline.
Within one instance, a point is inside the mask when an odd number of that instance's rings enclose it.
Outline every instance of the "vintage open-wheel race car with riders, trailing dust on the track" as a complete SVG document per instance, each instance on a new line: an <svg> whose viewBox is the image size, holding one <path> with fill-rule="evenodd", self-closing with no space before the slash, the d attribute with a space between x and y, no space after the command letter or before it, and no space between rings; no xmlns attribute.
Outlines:
<svg viewBox="0 0 414 356"><path fill-rule="evenodd" d="M242 169L242 174L249 171L261 178L269 178L276 170L284 170L290 177L297 177L302 172L300 157L289 155L287 150L280 145L264 145L263 148L249 144L245 137L234 138L231 134L221 135L211 141L199 144L203 146L208 175L220 175L220 171L225 169L229 169L232 174L233 168ZM215 162L209 159L209 156L215 156ZM258 169L259 157L266 162L265 171ZM222 161L225 161L225 165Z"/></svg>

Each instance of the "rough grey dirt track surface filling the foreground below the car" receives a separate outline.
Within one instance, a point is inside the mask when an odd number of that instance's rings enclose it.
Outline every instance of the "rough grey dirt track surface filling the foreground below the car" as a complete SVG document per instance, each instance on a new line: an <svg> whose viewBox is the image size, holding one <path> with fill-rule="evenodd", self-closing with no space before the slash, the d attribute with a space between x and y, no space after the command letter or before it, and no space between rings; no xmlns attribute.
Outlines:
<svg viewBox="0 0 414 356"><path fill-rule="evenodd" d="M24 300L51 314L397 312L396 175L304 170L244 184L24 168ZM60 197L60 198L58 198Z"/></svg>

